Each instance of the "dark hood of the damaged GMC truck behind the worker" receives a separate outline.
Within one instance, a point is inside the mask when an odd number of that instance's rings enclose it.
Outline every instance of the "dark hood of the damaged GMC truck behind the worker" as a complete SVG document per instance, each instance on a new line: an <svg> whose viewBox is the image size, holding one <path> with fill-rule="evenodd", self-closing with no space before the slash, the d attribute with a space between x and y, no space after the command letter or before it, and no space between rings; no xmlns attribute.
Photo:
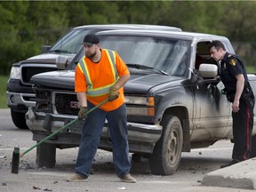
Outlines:
<svg viewBox="0 0 256 192"><path fill-rule="evenodd" d="M132 74L124 86L125 92L148 92L149 89L158 84L164 84L170 81L179 80L179 76L164 76L161 74ZM40 84L51 88L74 90L75 89L75 71L52 71L37 74L30 79L31 84Z"/></svg>

